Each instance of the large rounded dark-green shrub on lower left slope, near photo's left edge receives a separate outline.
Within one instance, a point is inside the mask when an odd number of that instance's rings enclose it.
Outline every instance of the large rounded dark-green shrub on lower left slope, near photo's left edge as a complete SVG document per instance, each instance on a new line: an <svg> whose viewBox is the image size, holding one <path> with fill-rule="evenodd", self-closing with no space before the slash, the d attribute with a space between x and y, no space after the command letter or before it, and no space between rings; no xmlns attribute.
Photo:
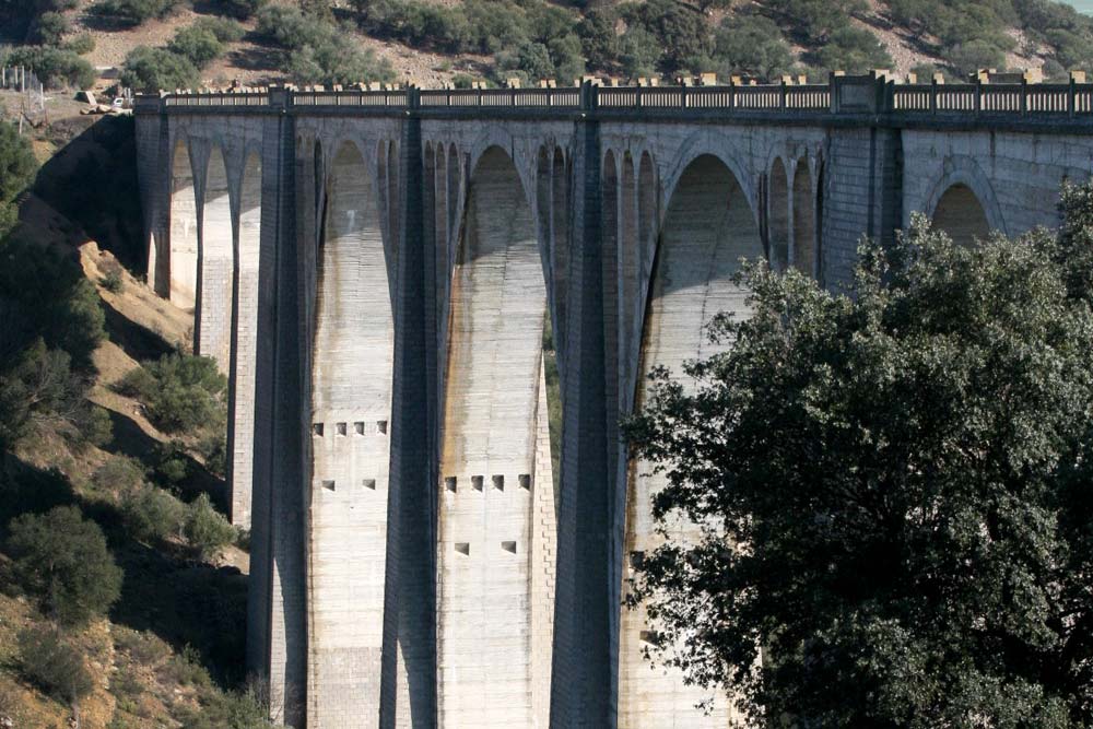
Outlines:
<svg viewBox="0 0 1093 729"><path fill-rule="evenodd" d="M61 624L101 616L121 595L121 569L102 529L74 506L12 519L7 545L20 585Z"/></svg>

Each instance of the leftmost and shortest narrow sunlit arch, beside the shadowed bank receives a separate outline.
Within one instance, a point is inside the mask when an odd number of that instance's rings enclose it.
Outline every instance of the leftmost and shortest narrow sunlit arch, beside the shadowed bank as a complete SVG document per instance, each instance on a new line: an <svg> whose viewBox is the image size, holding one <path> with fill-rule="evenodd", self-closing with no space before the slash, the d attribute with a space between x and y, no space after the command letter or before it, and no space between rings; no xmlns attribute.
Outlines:
<svg viewBox="0 0 1093 729"><path fill-rule="evenodd" d="M185 141L175 144L171 163L171 230L166 269L167 297L184 309L192 309L198 291L198 203L193 167Z"/></svg>

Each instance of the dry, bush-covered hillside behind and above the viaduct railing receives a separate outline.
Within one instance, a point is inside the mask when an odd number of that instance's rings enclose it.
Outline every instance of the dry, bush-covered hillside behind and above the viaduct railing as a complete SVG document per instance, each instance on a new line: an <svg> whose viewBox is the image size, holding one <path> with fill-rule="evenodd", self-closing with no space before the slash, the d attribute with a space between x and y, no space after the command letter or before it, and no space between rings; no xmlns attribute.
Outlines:
<svg viewBox="0 0 1093 729"><path fill-rule="evenodd" d="M1093 70L1093 19L1053 0L0 0L0 20L9 62L101 89Z"/></svg>

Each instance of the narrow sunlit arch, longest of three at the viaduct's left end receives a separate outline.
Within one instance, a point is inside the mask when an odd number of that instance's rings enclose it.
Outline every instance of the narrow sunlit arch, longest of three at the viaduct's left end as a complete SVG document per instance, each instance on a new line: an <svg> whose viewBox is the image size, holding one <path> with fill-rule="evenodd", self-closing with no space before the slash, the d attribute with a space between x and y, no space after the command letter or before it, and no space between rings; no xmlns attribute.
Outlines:
<svg viewBox="0 0 1093 729"><path fill-rule="evenodd" d="M262 162L247 154L239 186L239 228L234 271L228 487L232 522L250 527L255 434L255 361L258 356L258 258L262 226Z"/></svg>

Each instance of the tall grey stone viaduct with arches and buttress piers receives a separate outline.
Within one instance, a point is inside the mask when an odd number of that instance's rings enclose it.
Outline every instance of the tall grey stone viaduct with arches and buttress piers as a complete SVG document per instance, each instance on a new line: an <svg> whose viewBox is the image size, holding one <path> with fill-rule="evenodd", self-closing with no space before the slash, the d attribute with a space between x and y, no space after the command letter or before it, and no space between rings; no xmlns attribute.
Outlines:
<svg viewBox="0 0 1093 729"><path fill-rule="evenodd" d="M269 89L136 115L149 284L231 375L247 661L312 729L728 726L620 607L658 539L618 432L643 374L745 311L741 257L838 287L912 211L1019 234L1093 167L1076 82Z"/></svg>

